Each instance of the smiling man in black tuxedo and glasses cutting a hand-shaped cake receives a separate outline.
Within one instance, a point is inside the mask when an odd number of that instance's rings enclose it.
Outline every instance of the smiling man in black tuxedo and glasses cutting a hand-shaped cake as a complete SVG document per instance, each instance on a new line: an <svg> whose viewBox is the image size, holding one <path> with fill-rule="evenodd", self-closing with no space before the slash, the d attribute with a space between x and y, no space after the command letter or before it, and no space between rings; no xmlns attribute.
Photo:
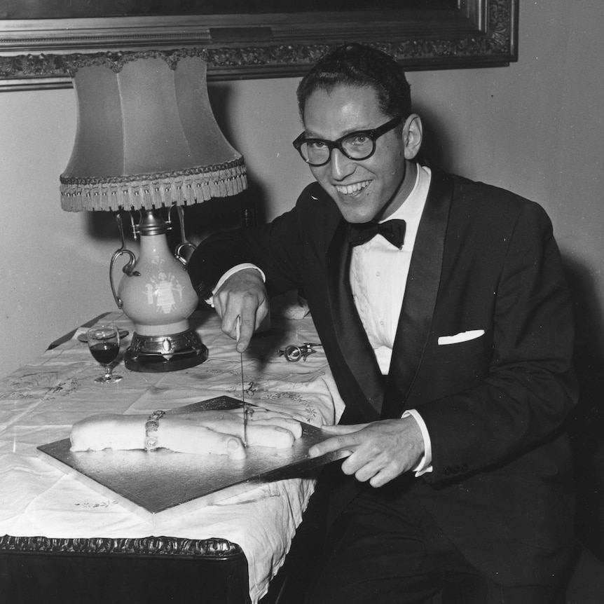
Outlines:
<svg viewBox="0 0 604 604"><path fill-rule="evenodd" d="M409 84L345 44L298 87L316 182L271 224L213 235L189 271L245 350L269 296L302 289L346 451L309 604L558 602L572 550L571 305L551 223L418 160Z"/></svg>

